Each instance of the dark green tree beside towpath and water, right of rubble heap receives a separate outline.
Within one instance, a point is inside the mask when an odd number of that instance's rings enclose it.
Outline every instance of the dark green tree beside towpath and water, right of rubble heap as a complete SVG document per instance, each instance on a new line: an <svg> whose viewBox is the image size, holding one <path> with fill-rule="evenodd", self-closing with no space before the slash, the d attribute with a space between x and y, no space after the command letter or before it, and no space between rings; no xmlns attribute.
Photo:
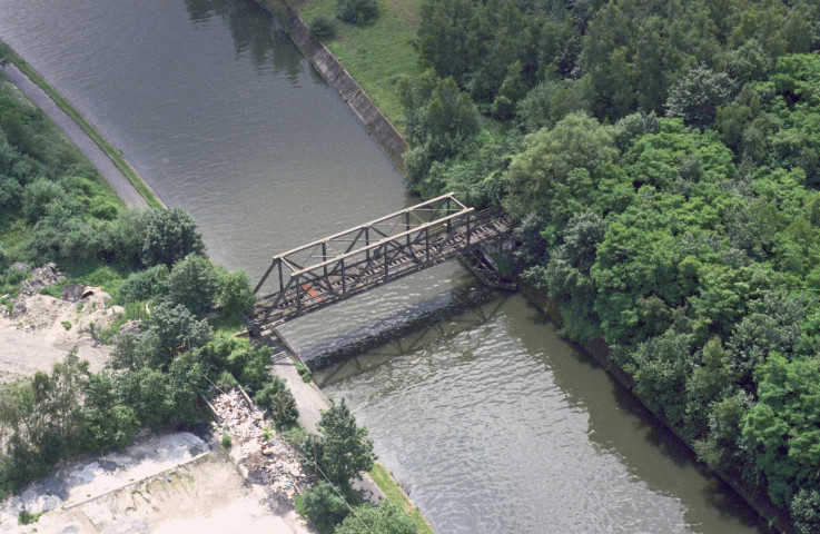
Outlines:
<svg viewBox="0 0 820 534"><path fill-rule="evenodd" d="M373 441L367 428L356 425L344 398L340 404L332 403L316 426L323 435L320 467L334 484L346 486L354 476L360 477L360 472L371 471Z"/></svg>

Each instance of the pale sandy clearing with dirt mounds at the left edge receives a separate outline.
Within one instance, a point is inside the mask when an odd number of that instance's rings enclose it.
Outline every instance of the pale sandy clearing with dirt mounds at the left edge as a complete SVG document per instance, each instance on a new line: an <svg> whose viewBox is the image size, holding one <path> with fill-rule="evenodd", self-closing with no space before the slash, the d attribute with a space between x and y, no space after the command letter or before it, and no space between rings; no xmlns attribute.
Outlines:
<svg viewBox="0 0 820 534"><path fill-rule="evenodd" d="M93 294L76 303L48 295L19 296L16 303L24 308L17 306L11 315L0 315L0 382L48 372L75 346L92 370L102 367L110 347L93 346L90 325L93 323L99 332L124 310L108 307L110 297L99 288L88 289ZM63 326L66 322L71 324L69 329Z"/></svg>

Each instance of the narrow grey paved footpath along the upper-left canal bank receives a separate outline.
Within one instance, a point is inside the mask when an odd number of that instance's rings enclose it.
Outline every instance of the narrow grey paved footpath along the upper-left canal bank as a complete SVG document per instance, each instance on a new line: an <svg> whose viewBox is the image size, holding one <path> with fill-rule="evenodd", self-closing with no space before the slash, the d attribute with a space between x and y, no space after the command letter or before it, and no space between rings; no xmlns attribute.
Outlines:
<svg viewBox="0 0 820 534"><path fill-rule="evenodd" d="M8 63L0 66L0 72L17 86L23 95L29 97L77 145L80 151L99 170L100 175L127 206L148 206L148 201L142 198L142 195L137 191L131 182L128 181L128 178L113 165L113 161L111 161L106 152L42 89L20 71L16 65Z"/></svg>

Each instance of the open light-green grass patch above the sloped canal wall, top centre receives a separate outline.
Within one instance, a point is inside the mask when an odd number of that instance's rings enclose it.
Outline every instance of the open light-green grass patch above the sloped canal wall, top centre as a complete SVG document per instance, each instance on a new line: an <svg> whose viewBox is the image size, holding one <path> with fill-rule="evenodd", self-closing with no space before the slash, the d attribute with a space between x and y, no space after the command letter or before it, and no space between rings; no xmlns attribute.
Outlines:
<svg viewBox="0 0 820 534"><path fill-rule="evenodd" d="M378 18L363 26L336 20L336 2L289 0L288 3L308 24L318 16L335 21L336 37L326 39L325 44L385 116L404 132L397 85L403 76L418 73L418 52L413 43L418 29L421 0L383 0Z"/></svg>

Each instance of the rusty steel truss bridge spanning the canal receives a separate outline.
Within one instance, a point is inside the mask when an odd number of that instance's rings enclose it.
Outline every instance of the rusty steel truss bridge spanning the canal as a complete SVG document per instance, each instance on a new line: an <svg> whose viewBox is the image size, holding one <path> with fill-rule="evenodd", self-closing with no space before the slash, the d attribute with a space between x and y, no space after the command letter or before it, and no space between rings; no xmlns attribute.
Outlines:
<svg viewBox="0 0 820 534"><path fill-rule="evenodd" d="M251 334L510 236L512 220L453 194L273 257L246 317Z"/></svg>

